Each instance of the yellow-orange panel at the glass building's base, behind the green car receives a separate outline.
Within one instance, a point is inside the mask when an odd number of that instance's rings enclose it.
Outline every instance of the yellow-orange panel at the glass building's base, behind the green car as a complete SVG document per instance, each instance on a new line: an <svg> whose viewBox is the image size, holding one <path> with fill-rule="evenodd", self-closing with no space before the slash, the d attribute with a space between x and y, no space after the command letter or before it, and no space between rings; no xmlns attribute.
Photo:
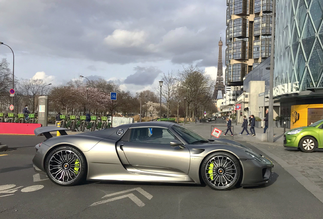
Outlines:
<svg viewBox="0 0 323 219"><path fill-rule="evenodd" d="M290 129L308 126L323 119L323 104L292 105L290 114Z"/></svg>

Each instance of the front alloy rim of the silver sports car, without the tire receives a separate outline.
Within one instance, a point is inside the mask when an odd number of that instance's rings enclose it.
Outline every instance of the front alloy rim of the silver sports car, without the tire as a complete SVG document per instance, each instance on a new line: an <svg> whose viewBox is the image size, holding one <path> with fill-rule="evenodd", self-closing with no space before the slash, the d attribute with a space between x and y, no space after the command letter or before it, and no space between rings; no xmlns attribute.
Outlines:
<svg viewBox="0 0 323 219"><path fill-rule="evenodd" d="M230 187L237 178L237 167L227 156L219 155L209 159L205 175L210 184L219 189Z"/></svg>

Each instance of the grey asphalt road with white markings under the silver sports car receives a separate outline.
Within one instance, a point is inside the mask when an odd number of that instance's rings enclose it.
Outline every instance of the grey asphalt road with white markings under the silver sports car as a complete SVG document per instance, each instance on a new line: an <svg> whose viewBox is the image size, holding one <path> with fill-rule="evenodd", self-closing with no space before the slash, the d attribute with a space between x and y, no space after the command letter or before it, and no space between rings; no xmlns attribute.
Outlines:
<svg viewBox="0 0 323 219"><path fill-rule="evenodd" d="M323 215L322 203L264 153L275 163L275 173L272 181L260 187L223 192L206 186L130 182L87 182L60 187L33 170L34 146L42 140L44 137L0 135L0 141L12 150L0 153L0 218L321 218ZM251 144L244 144L260 152Z"/></svg>

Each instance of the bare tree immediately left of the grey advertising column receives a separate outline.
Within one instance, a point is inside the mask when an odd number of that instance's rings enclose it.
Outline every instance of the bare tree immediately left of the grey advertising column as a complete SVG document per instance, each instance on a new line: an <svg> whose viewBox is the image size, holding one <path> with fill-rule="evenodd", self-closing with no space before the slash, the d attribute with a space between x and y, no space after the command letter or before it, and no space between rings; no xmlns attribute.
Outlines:
<svg viewBox="0 0 323 219"><path fill-rule="evenodd" d="M33 106L33 113L35 112L36 96L39 95L43 86L44 82L40 79L25 79L21 80L19 84L20 92L28 97L30 104Z"/></svg>

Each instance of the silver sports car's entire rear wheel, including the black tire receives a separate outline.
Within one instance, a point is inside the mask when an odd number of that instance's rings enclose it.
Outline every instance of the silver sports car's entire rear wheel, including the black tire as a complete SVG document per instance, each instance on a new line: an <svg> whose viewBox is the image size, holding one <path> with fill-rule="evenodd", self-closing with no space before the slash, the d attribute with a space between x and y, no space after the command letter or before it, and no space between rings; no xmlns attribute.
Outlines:
<svg viewBox="0 0 323 219"><path fill-rule="evenodd" d="M87 164L82 153L72 147L60 146L46 159L48 178L59 186L75 186L84 181Z"/></svg>

